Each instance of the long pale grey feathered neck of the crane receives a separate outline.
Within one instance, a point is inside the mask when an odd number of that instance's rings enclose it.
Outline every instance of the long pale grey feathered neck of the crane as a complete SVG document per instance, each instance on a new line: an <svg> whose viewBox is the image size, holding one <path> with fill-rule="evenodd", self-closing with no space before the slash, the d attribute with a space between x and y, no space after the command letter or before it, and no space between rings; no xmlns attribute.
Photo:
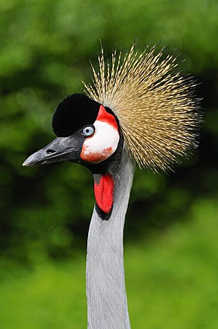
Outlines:
<svg viewBox="0 0 218 329"><path fill-rule="evenodd" d="M106 220L94 208L87 239L87 322L88 329L131 328L124 280L123 231L135 163L126 147L111 169L113 208ZM94 181L99 175L94 175Z"/></svg>

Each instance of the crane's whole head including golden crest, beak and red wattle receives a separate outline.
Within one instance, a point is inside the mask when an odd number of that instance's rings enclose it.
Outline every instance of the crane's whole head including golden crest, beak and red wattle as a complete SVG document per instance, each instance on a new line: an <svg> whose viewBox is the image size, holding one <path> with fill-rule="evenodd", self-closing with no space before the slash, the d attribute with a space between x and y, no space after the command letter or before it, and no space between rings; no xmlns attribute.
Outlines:
<svg viewBox="0 0 218 329"><path fill-rule="evenodd" d="M57 138L23 166L64 160L85 165L94 173L96 203L109 214L111 172L124 143L139 167L153 171L172 169L198 145L202 113L195 82L177 66L176 58L156 47L114 51L111 64L102 49L97 71L92 66L92 84L84 84L87 96L73 94L59 103L52 123Z"/></svg>

